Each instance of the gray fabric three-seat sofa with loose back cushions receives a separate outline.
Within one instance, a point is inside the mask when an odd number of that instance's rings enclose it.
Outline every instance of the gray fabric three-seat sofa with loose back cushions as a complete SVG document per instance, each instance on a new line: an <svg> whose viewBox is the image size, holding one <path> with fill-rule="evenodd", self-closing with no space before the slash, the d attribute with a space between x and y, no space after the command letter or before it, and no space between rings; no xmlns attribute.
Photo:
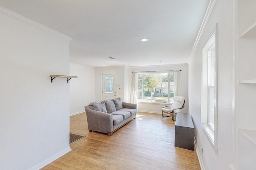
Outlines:
<svg viewBox="0 0 256 170"><path fill-rule="evenodd" d="M89 131L107 133L114 131L136 118L137 104L122 102L121 98L92 102L84 106Z"/></svg>

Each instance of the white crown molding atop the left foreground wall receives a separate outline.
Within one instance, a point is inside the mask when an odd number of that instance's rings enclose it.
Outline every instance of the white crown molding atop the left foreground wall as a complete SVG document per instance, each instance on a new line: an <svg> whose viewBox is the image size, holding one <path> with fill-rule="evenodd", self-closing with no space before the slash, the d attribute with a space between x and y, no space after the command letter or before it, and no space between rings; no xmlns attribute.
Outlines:
<svg viewBox="0 0 256 170"><path fill-rule="evenodd" d="M15 20L21 21L23 23L26 23L26 24L28 24L28 25L30 25L32 27L38 28L38 29L40 29L42 31L45 31L47 33L50 33L52 35L55 35L55 36L60 37L62 39L65 39L67 41L71 41L73 39L71 37L68 37L67 35L64 35L64 34L58 32L58 31L55 31L54 29L46 27L45 25L42 25L42 24L40 24L40 23L38 23L36 21L30 20L29 18L26 18L26 17L24 17L24 16L22 16L20 14L17 14L16 12L8 10L8 9L2 7L2 6L0 6L0 14L6 15L6 16L8 16L10 18L13 18Z"/></svg>

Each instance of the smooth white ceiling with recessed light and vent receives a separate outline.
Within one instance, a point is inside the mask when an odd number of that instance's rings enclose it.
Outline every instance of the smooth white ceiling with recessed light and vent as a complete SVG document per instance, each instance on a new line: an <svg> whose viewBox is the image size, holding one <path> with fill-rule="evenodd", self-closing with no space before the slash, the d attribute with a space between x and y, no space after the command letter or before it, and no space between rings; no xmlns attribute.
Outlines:
<svg viewBox="0 0 256 170"><path fill-rule="evenodd" d="M188 63L209 2L0 0L0 6L72 37L71 63L101 67Z"/></svg>

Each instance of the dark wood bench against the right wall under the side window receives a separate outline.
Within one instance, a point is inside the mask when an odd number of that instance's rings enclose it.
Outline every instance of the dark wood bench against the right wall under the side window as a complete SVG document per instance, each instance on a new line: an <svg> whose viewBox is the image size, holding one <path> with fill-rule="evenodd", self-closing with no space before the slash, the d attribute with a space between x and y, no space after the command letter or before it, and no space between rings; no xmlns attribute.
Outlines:
<svg viewBox="0 0 256 170"><path fill-rule="evenodd" d="M194 124L189 113L177 113L174 146L194 150Z"/></svg>

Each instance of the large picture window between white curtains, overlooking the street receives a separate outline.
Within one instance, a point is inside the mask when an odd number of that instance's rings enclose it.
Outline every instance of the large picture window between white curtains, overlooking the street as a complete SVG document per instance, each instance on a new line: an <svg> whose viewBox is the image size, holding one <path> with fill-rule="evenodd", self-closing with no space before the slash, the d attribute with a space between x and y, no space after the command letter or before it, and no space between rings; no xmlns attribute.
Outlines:
<svg viewBox="0 0 256 170"><path fill-rule="evenodd" d="M138 74L138 102L170 103L173 97L173 72Z"/></svg>

